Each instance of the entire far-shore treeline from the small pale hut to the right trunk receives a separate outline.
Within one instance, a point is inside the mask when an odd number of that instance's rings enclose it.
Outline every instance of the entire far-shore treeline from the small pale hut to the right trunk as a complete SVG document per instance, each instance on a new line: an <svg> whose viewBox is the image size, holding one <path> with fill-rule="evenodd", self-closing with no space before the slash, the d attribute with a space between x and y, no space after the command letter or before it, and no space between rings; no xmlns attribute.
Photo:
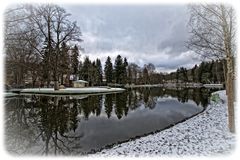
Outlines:
<svg viewBox="0 0 240 160"><path fill-rule="evenodd" d="M79 70L79 78L86 80L90 85L116 84L159 84L159 83L224 83L224 61L202 62L191 69L178 68L175 72L162 73L155 69L152 63L143 67L135 63L128 63L127 58L118 55L114 61L110 57L102 71L99 59L91 62L85 58ZM104 72L104 73L103 73ZM102 74L103 73L103 74Z"/></svg>

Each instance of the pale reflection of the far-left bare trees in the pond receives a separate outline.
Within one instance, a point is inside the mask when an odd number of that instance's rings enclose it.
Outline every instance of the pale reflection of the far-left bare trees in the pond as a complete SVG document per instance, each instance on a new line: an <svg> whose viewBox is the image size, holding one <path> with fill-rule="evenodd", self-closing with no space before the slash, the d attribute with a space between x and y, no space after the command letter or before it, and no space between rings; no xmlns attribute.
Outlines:
<svg viewBox="0 0 240 160"><path fill-rule="evenodd" d="M38 134L35 133L34 128L28 129L31 127L28 117L32 116L29 113L33 108L26 106L27 109L25 109L22 107L25 103L26 100L23 98L11 99L8 100L7 107L5 107L5 145L11 153L18 154L18 150L25 152L31 142L35 141L32 135ZM27 139L23 137L27 137Z"/></svg>

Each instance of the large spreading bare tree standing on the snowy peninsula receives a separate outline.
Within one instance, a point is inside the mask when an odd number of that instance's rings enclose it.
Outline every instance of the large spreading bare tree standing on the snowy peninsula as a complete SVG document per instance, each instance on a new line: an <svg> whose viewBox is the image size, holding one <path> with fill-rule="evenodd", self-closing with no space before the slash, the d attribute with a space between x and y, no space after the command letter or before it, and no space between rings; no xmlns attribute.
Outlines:
<svg viewBox="0 0 240 160"><path fill-rule="evenodd" d="M58 90L58 77L60 76L59 60L62 43L81 42L80 28L76 22L71 22L70 14L56 5L41 5L32 10L31 21L40 36L47 41L48 54L50 56L51 69L53 72L54 89Z"/></svg>

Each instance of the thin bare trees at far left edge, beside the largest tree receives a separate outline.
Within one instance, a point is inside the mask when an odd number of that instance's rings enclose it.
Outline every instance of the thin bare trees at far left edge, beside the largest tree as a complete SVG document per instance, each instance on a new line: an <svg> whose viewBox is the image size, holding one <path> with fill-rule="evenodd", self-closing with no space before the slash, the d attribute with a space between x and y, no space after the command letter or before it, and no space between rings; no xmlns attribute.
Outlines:
<svg viewBox="0 0 240 160"><path fill-rule="evenodd" d="M32 43L38 44L37 36L31 25L27 25L30 12L26 6L17 5L7 9L4 14L7 81L20 85L24 83L27 76L32 76L34 85L39 56L35 54L35 50L29 43L31 40ZM13 78L8 78L9 75Z"/></svg>

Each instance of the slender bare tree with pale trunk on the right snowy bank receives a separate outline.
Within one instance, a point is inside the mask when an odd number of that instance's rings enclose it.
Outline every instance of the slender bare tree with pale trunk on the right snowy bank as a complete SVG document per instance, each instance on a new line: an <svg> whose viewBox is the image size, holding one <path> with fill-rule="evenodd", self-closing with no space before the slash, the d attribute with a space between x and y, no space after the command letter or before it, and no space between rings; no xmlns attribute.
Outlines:
<svg viewBox="0 0 240 160"><path fill-rule="evenodd" d="M228 96L229 129L235 132L233 63L236 55L236 26L234 10L231 6L211 4L191 5L189 11L188 47L204 58L226 60L227 64L223 65Z"/></svg>

